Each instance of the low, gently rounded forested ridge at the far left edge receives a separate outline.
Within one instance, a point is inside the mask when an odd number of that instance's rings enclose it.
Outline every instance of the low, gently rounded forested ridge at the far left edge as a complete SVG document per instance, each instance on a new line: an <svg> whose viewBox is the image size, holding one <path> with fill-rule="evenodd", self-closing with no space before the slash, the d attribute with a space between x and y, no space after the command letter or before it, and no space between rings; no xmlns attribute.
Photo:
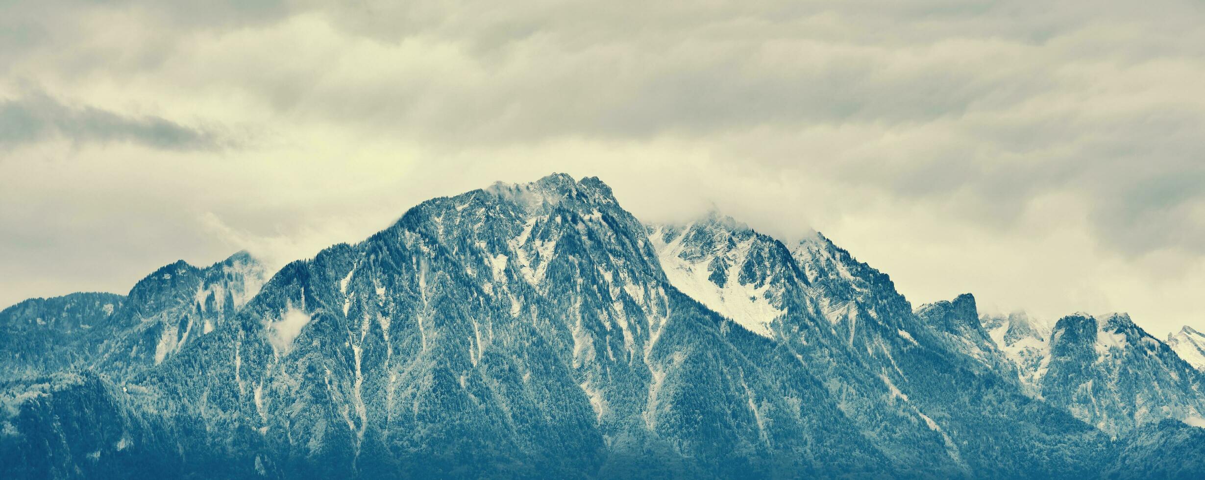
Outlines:
<svg viewBox="0 0 1205 480"><path fill-rule="evenodd" d="M0 373L28 377L67 368L86 357L94 338L125 297L71 294L30 298L0 312Z"/></svg>

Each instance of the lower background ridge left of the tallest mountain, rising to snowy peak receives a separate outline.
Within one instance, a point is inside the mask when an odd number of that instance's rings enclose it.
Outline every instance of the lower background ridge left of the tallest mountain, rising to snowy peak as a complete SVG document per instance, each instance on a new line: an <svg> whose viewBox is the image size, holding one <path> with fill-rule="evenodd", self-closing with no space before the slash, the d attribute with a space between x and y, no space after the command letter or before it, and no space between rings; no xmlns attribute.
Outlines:
<svg viewBox="0 0 1205 480"><path fill-rule="evenodd" d="M129 295L71 294L34 298L0 312L0 354L13 375L95 368L117 377L163 362L212 332L253 297L264 267L247 253L198 268L177 261L139 282Z"/></svg>

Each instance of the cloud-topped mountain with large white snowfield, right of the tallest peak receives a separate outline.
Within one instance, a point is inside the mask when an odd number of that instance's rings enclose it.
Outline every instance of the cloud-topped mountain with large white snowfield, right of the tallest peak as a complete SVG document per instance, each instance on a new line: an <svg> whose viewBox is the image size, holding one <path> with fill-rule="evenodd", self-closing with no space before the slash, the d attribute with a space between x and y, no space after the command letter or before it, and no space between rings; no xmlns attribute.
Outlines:
<svg viewBox="0 0 1205 480"><path fill-rule="evenodd" d="M1065 413L1022 395L1016 380L951 350L941 331L913 315L886 274L823 236L787 249L715 214L688 225L654 225L649 235L671 283L777 340L823 379L827 395L840 399L842 411L894 464L909 466L901 469L924 464L929 474L959 476L991 464L994 472L1016 468L1013 474L1024 475L1044 468L1036 456L1065 454L1044 445L1046 435L1095 442ZM977 325L974 300L970 304ZM986 333L982 338L991 343ZM1031 425L1041 434L1019 438L1010 433L1017 425L988 420L1021 411L1021 422L1042 419ZM1010 457L1004 469L1001 457ZM1080 462L1058 461L1064 474L1082 468Z"/></svg>

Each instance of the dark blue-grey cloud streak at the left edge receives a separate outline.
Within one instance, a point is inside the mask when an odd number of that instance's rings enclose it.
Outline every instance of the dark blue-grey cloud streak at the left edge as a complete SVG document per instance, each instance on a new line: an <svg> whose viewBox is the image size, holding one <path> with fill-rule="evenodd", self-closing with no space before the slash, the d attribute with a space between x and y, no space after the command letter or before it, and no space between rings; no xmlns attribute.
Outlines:
<svg viewBox="0 0 1205 480"><path fill-rule="evenodd" d="M101 108L71 107L45 94L0 101L0 148L61 137L72 143L134 142L157 149L214 149L214 134L161 117L129 117Z"/></svg>

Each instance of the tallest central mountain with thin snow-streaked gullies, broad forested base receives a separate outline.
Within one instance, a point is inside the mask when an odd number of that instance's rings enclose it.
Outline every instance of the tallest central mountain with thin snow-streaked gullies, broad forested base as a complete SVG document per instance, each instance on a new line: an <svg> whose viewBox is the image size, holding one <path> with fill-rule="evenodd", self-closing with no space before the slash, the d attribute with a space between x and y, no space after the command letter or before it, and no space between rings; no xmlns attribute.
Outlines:
<svg viewBox="0 0 1205 480"><path fill-rule="evenodd" d="M666 282L594 178L424 202L287 266L239 319L146 381L206 431L251 425L270 473L883 468L805 366Z"/></svg>

